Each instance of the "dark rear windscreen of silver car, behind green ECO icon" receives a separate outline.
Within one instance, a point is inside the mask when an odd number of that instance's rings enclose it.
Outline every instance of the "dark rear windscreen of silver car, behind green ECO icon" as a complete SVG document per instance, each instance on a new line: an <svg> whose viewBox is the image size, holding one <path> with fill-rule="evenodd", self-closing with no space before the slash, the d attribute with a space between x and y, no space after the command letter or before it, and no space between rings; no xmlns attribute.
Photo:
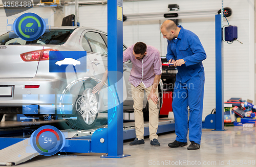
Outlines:
<svg viewBox="0 0 256 167"><path fill-rule="evenodd" d="M33 41L26 41L18 37L14 32L8 32L0 36L0 45L12 44L64 44L75 29L51 29Z"/></svg>

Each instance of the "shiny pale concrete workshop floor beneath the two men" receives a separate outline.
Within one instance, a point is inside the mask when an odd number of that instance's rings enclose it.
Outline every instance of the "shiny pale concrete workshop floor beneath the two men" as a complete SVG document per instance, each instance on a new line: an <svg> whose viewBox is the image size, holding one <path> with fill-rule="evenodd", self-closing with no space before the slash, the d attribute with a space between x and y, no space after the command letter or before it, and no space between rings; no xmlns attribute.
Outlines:
<svg viewBox="0 0 256 167"><path fill-rule="evenodd" d="M129 146L124 142L124 154L120 159L100 158L101 154L39 155L18 166L256 166L256 130L243 127L225 127L227 131L203 130L201 148L187 150L187 146L169 148L175 133L159 135L160 147L145 144ZM190 145L190 142L188 142Z"/></svg>

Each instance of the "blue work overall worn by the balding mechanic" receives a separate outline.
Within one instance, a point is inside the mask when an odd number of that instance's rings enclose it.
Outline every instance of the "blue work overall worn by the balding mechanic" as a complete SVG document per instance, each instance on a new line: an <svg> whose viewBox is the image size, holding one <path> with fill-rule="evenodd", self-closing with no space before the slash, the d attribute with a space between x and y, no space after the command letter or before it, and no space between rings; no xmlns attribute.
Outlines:
<svg viewBox="0 0 256 167"><path fill-rule="evenodd" d="M204 48L196 34L189 30L180 29L177 39L168 40L166 58L183 59L185 64L177 66L178 73L173 93L173 111L175 117L176 140L201 144L202 114L204 97L204 67L206 59ZM189 106L189 124L188 110Z"/></svg>

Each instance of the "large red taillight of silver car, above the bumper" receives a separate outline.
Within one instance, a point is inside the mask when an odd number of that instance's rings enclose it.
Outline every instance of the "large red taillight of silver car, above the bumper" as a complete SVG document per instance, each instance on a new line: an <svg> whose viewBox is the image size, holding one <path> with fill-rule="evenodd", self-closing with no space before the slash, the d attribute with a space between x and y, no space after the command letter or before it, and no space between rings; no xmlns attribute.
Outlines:
<svg viewBox="0 0 256 167"><path fill-rule="evenodd" d="M45 49L45 50L31 51L31 52L20 54L20 57L22 58L23 61L49 60L50 51L58 51L58 50Z"/></svg>

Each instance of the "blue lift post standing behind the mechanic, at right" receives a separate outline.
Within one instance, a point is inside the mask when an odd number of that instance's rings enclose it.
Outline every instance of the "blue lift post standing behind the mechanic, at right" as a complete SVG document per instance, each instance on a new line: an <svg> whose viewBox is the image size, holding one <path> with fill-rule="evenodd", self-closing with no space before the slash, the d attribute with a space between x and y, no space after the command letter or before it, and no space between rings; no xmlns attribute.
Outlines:
<svg viewBox="0 0 256 167"><path fill-rule="evenodd" d="M224 130L223 35L221 14L215 15L216 113L205 117L202 128Z"/></svg>

